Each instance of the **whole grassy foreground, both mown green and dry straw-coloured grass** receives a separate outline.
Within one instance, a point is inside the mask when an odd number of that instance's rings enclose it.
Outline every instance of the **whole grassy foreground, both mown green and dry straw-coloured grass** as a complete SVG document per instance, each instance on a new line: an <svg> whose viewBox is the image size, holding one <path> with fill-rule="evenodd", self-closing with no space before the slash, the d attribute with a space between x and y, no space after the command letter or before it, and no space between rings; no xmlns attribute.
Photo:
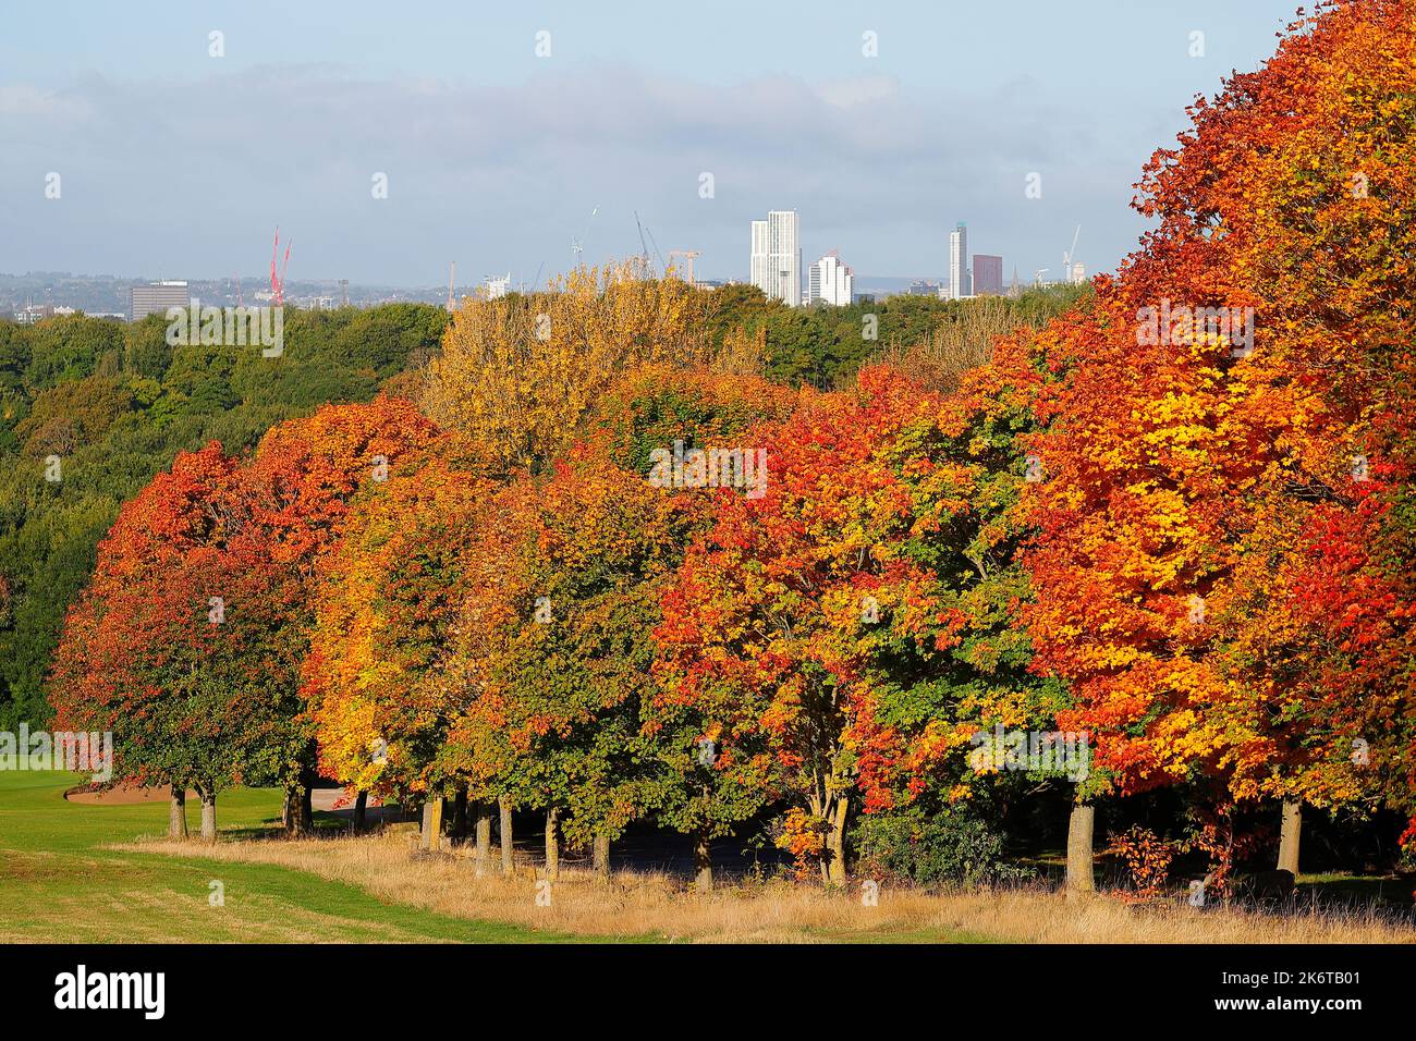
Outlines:
<svg viewBox="0 0 1416 1041"><path fill-rule="evenodd" d="M65 802L76 780L0 773L0 942L1416 942L1409 915L1365 901L1317 911L1310 899L1279 915L1069 902L1044 888L882 887L869 905L855 889L780 881L701 899L663 874L619 872L598 885L572 868L544 904L534 865L510 880L479 877L467 858L412 855L406 830L273 838L273 790L222 795L219 843L171 843L166 803ZM188 813L194 824L195 807ZM222 906L208 901L212 881ZM1352 884L1303 881L1310 897Z"/></svg>

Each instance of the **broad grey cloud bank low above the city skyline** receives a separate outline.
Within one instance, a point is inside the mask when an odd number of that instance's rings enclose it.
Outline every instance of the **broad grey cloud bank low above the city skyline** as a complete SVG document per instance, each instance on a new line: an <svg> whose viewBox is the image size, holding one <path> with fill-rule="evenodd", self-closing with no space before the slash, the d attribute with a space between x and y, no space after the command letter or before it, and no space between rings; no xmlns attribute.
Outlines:
<svg viewBox="0 0 1416 1041"><path fill-rule="evenodd" d="M701 271L743 276L746 221L797 208L809 252L929 273L954 220L994 237L980 251L1021 252L1082 214L1124 215L1134 161L1099 123L1028 79L978 98L882 76L721 86L599 65L484 86L282 65L11 85L0 269L251 272L280 222L306 278L430 283L449 256L530 278L569 262L599 205L586 259L637 251L639 211L663 249L694 245ZM58 203L48 170L65 178ZM1032 170L1056 203L1024 200ZM388 200L370 194L377 171Z"/></svg>

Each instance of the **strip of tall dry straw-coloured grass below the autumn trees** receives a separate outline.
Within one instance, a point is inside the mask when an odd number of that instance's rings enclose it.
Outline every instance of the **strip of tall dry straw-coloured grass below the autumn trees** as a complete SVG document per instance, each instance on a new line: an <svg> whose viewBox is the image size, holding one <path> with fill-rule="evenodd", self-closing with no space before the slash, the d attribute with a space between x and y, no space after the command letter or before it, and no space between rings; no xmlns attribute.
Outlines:
<svg viewBox="0 0 1416 1041"><path fill-rule="evenodd" d="M660 874L622 872L596 885L562 870L551 906L535 904L537 877L518 865L479 877L469 858L415 858L409 837L258 840L201 846L150 841L122 848L183 857L279 864L348 882L412 906L561 933L692 942L947 942L1032 943L1413 943L1416 929L1374 914L1130 906L1104 897L1068 901L1037 888L933 895L882 887L878 906L858 891L826 894L789 882L722 888L711 898ZM498 867L494 864L494 868Z"/></svg>

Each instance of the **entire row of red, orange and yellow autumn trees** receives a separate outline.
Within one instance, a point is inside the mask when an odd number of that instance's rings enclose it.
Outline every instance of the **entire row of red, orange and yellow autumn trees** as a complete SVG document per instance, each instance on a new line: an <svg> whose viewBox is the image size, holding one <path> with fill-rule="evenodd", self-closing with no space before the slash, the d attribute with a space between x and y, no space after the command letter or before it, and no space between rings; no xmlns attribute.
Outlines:
<svg viewBox="0 0 1416 1041"><path fill-rule="evenodd" d="M961 378L780 385L627 271L464 306L416 408L125 507L59 718L204 800L319 769L470 802L483 846L537 809L552 875L647 817L707 882L769 816L841 882L852 836L1048 787L1086 888L1103 796L1182 792L1221 880L1243 807L1286 804L1290 870L1303 804L1416 820L1412 14L1325 4L1198 102L1141 248ZM1085 732L1089 770L971 756L998 728Z"/></svg>

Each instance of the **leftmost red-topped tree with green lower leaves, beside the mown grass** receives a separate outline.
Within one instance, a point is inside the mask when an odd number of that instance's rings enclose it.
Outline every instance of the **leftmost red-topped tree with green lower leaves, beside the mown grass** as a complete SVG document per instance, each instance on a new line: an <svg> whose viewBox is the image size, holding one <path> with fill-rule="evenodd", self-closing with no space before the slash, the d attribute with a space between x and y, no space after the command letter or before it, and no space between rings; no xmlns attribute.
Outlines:
<svg viewBox="0 0 1416 1041"><path fill-rule="evenodd" d="M58 727L110 731L116 779L169 785L178 806L195 787L208 840L217 792L241 775L245 728L268 718L249 715L259 705L236 678L248 654L262 657L268 622L246 603L229 625L225 613L234 582L248 581L241 565L258 564L224 552L214 504L235 467L210 445L123 507L69 610L51 678ZM185 833L184 816L174 813L173 830Z"/></svg>

